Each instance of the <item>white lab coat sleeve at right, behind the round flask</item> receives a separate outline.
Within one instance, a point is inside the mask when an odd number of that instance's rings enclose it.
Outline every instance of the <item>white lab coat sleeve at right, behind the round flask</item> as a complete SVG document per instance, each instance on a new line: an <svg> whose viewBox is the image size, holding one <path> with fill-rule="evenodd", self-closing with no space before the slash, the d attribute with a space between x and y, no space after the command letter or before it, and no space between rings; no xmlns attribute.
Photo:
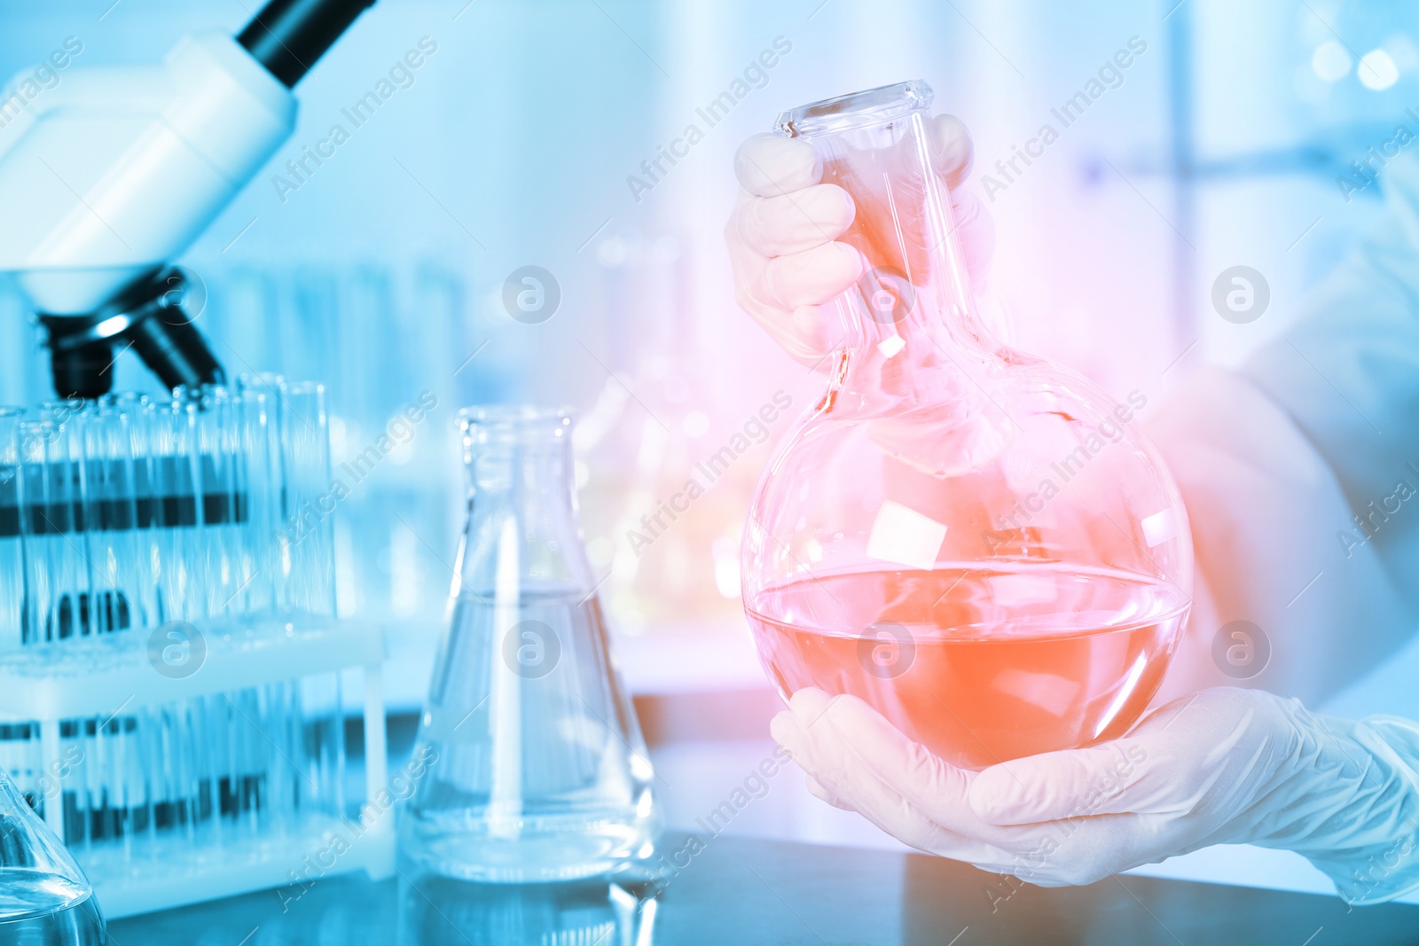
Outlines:
<svg viewBox="0 0 1419 946"><path fill-rule="evenodd" d="M1386 173L1381 226L1291 328L1240 370L1198 372L1151 418L1198 563L1161 696L1244 682L1314 703L1419 624L1419 165ZM1271 651L1247 681L1218 657L1236 620Z"/></svg>

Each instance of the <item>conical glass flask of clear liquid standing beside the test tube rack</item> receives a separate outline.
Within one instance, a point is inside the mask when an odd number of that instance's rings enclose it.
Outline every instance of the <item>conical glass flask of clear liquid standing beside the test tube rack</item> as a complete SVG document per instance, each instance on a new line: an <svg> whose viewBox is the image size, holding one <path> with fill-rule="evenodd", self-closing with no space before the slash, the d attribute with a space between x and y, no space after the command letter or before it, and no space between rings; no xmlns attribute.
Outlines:
<svg viewBox="0 0 1419 946"><path fill-rule="evenodd" d="M458 416L468 523L400 823L423 871L485 882L610 874L653 851L653 772L582 549L572 418Z"/></svg>

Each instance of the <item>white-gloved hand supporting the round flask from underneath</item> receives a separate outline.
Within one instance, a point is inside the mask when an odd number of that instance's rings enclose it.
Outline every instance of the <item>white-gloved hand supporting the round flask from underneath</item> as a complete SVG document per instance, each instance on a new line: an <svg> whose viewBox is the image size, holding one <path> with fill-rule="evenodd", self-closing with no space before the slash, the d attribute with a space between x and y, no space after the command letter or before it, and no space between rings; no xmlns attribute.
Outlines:
<svg viewBox="0 0 1419 946"><path fill-rule="evenodd" d="M1348 902L1419 885L1419 725L1205 689L1122 739L956 769L856 696L802 689L772 725L809 790L928 854L1043 886L1210 844L1305 855Z"/></svg>

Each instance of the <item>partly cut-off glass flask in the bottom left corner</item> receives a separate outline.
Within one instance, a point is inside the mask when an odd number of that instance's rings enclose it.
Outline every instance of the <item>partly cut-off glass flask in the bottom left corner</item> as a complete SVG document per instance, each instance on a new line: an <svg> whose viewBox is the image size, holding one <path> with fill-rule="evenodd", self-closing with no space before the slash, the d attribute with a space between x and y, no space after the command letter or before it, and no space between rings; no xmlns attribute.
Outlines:
<svg viewBox="0 0 1419 946"><path fill-rule="evenodd" d="M104 916L84 871L0 767L0 943L105 942Z"/></svg>

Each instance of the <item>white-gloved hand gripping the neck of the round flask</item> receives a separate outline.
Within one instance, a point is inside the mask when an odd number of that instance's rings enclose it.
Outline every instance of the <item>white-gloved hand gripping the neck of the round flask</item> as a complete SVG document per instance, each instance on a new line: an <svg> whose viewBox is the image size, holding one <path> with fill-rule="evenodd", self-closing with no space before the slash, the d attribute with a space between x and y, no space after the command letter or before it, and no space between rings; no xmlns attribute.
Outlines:
<svg viewBox="0 0 1419 946"><path fill-rule="evenodd" d="M975 194L958 187L971 173L971 135L951 115L931 119L929 130L966 269L979 281L995 247L995 227ZM853 223L853 199L837 184L817 183L822 163L802 139L755 135L739 146L734 170L739 199L724 235L735 295L789 355L816 366L837 342L829 338L817 306L863 274L858 252L834 243Z"/></svg>

